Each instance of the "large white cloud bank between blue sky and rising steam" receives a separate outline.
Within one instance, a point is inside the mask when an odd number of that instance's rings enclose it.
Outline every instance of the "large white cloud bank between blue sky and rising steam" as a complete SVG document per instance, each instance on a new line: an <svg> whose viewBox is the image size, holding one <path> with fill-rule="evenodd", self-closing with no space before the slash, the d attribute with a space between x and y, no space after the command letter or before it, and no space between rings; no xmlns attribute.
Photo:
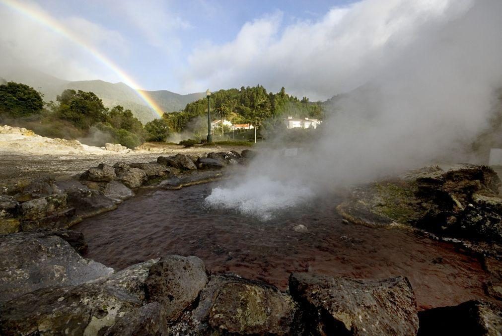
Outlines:
<svg viewBox="0 0 502 336"><path fill-rule="evenodd" d="M246 23L235 39L207 43L188 58L184 91L260 83L314 99L375 76L417 36L454 19L472 0L363 0L318 21L281 25L272 15Z"/></svg>

